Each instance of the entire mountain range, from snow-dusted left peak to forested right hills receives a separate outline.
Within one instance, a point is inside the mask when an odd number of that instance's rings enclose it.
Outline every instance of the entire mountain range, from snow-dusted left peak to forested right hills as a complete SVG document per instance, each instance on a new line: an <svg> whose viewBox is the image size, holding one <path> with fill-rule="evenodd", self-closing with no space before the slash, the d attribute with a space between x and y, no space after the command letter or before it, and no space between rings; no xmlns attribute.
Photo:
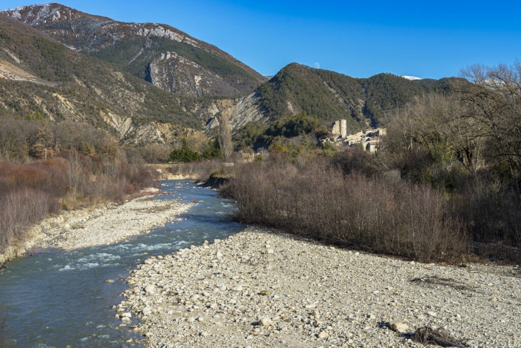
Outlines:
<svg viewBox="0 0 521 348"><path fill-rule="evenodd" d="M0 11L0 114L89 122L122 144L168 143L306 111L351 130L382 126L415 95L451 79L357 79L289 64L261 74L214 45L159 23L126 23L59 4Z"/></svg>

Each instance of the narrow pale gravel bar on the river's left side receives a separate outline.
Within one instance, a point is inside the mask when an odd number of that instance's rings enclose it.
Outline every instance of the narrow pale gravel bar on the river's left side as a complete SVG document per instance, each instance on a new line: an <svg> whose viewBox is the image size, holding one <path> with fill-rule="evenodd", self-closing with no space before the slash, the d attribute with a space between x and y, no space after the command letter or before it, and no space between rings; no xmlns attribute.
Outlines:
<svg viewBox="0 0 521 348"><path fill-rule="evenodd" d="M153 200L158 189L140 191L140 197L121 204L97 204L78 210L62 211L29 228L25 241L19 241L0 254L0 264L40 248L77 248L110 244L140 234L188 210L192 204ZM95 232L95 233L93 233Z"/></svg>

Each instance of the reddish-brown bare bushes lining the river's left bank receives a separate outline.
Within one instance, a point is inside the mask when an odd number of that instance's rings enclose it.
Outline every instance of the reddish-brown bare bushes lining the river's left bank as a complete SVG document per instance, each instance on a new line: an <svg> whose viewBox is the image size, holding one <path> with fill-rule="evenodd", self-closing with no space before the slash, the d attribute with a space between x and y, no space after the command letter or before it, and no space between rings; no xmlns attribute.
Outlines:
<svg viewBox="0 0 521 348"><path fill-rule="evenodd" d="M77 151L21 165L0 162L0 252L60 207L122 201L150 187L156 176L143 165L102 161Z"/></svg>

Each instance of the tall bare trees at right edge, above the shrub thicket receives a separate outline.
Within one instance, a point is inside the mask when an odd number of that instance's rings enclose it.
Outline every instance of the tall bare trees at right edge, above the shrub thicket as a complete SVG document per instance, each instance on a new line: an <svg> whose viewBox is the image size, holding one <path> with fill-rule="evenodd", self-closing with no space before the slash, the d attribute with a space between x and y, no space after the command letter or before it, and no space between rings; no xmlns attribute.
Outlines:
<svg viewBox="0 0 521 348"><path fill-rule="evenodd" d="M521 63L475 65L461 76L456 93L419 96L396 111L387 151L449 166L457 159L473 176L495 166L521 179Z"/></svg>

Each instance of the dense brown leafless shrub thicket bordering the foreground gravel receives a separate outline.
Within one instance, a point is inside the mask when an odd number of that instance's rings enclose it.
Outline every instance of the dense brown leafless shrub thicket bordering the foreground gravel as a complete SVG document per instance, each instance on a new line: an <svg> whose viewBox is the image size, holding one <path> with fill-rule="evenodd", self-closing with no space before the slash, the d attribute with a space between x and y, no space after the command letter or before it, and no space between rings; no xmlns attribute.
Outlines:
<svg viewBox="0 0 521 348"><path fill-rule="evenodd" d="M234 175L227 193L238 202L239 220L424 261L466 251L460 221L427 187L358 173L344 177L323 158L301 170L274 158L239 166Z"/></svg>

